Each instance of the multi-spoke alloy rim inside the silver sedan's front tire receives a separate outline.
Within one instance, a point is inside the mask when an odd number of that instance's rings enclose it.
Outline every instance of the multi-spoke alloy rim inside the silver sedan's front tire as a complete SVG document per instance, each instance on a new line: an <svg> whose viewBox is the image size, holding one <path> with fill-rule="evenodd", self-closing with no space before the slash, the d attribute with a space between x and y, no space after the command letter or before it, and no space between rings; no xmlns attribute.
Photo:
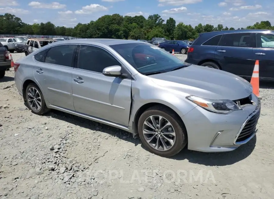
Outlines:
<svg viewBox="0 0 274 199"><path fill-rule="evenodd" d="M164 117L152 115L143 124L143 134L147 143L158 151L167 151L173 147L176 139L174 127Z"/></svg>

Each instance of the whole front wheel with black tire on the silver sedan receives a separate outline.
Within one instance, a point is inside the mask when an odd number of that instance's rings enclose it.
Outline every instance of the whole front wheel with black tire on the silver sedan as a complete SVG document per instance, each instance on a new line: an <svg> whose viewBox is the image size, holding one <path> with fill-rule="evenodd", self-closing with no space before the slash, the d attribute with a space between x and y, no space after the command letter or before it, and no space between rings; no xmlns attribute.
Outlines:
<svg viewBox="0 0 274 199"><path fill-rule="evenodd" d="M156 155L170 157L187 144L186 128L174 111L153 106L139 118L138 132L143 145Z"/></svg>

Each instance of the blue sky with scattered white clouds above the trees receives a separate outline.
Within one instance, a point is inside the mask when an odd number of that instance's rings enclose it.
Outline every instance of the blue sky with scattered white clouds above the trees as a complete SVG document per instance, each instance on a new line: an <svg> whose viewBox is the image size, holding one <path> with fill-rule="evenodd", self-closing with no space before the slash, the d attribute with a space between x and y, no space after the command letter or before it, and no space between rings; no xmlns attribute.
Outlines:
<svg viewBox="0 0 274 199"><path fill-rule="evenodd" d="M262 20L274 25L273 9L273 0L0 0L0 14L9 12L30 24L51 21L67 27L114 13L146 18L159 14L192 26L222 23L238 28Z"/></svg>

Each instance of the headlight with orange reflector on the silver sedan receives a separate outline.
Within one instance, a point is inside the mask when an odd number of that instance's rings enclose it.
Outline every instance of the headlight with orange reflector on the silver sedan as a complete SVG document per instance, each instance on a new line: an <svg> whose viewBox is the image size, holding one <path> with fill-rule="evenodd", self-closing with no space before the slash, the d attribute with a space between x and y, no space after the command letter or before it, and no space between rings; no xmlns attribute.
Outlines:
<svg viewBox="0 0 274 199"><path fill-rule="evenodd" d="M242 110L231 100L211 100L197 96L188 96L187 99L213 113L227 114L234 110Z"/></svg>

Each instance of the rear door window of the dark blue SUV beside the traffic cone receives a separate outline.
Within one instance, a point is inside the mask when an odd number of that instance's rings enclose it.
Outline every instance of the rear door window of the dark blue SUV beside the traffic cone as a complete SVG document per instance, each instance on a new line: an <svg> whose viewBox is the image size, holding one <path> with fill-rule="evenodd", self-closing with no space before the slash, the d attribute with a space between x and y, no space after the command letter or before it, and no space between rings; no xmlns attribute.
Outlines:
<svg viewBox="0 0 274 199"><path fill-rule="evenodd" d="M252 48L255 47L255 39L251 37L251 33L224 34L219 46Z"/></svg>

